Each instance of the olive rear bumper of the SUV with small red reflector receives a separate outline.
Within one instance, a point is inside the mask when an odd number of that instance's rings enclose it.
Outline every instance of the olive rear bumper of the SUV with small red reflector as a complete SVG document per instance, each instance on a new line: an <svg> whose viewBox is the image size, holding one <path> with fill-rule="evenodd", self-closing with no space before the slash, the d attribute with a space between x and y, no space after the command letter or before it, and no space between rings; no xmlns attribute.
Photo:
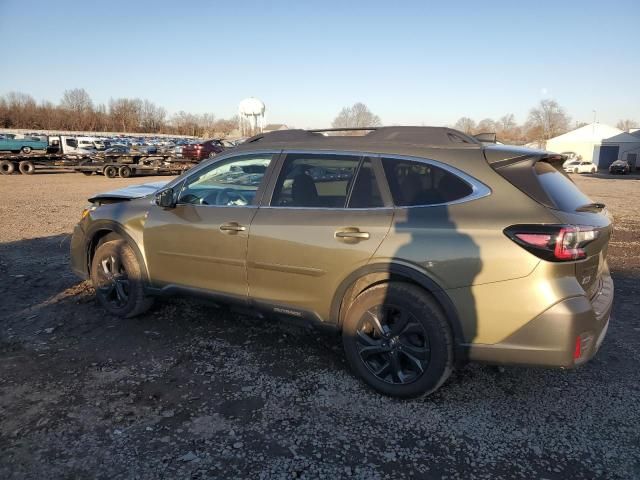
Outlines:
<svg viewBox="0 0 640 480"><path fill-rule="evenodd" d="M493 364L573 368L593 358L609 326L613 280L603 276L598 294L564 299L503 341L467 345L468 358ZM577 353L579 343L579 355Z"/></svg>

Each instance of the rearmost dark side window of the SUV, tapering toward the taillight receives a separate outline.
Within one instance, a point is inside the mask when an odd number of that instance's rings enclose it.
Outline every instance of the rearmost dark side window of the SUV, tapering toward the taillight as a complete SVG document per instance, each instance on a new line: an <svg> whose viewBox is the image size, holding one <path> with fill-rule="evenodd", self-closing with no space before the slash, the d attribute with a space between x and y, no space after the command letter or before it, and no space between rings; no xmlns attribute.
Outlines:
<svg viewBox="0 0 640 480"><path fill-rule="evenodd" d="M453 173L422 162L382 159L396 205L436 205L471 195L471 186Z"/></svg>

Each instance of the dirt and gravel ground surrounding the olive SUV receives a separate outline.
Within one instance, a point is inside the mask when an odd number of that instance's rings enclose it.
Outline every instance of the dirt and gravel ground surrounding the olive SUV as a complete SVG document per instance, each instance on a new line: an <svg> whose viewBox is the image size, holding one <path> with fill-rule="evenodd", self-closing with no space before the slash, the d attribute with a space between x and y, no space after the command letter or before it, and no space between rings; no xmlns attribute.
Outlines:
<svg viewBox="0 0 640 480"><path fill-rule="evenodd" d="M335 335L191 299L105 315L69 234L90 194L157 178L0 176L0 478L639 478L640 179L575 178L616 222L597 357L398 401Z"/></svg>

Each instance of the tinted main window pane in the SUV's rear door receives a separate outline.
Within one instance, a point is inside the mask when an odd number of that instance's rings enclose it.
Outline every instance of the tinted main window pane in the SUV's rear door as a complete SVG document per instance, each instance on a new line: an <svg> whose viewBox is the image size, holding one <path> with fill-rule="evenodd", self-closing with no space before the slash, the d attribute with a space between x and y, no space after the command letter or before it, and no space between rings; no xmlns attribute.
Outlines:
<svg viewBox="0 0 640 480"><path fill-rule="evenodd" d="M271 205L343 208L359 162L351 155L288 154Z"/></svg>

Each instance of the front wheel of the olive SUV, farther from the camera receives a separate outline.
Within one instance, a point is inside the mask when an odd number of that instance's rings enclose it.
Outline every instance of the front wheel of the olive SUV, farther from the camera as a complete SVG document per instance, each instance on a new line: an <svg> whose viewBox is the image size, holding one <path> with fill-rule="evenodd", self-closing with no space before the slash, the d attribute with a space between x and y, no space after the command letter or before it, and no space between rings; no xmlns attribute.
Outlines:
<svg viewBox="0 0 640 480"><path fill-rule="evenodd" d="M91 262L91 282L98 302L111 315L135 317L153 304L153 299L145 294L136 255L124 240L98 246Z"/></svg>

